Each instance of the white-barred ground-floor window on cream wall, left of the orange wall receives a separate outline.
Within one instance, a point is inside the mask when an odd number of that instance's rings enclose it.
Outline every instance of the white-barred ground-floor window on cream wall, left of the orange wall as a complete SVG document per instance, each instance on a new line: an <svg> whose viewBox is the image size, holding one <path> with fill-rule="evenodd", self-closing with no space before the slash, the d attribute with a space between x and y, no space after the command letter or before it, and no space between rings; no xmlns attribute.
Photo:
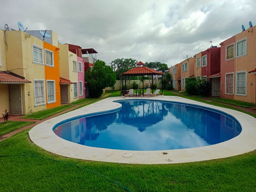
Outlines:
<svg viewBox="0 0 256 192"><path fill-rule="evenodd" d="M34 79L35 106L45 104L45 80Z"/></svg>

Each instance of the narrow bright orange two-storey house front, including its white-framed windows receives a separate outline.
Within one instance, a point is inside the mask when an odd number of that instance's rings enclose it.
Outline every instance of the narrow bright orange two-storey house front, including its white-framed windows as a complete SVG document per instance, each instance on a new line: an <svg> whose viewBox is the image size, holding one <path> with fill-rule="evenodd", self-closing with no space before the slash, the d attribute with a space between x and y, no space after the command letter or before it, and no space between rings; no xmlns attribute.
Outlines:
<svg viewBox="0 0 256 192"><path fill-rule="evenodd" d="M44 41L46 109L60 106L59 48Z"/></svg>

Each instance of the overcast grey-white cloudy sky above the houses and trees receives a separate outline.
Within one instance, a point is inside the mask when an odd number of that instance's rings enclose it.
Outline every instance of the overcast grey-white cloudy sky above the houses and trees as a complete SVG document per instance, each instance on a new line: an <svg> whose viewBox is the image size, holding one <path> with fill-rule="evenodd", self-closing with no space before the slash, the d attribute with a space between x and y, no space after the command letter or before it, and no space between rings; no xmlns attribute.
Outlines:
<svg viewBox="0 0 256 192"><path fill-rule="evenodd" d="M255 0L1 0L0 29L53 30L61 44L97 59L160 61L169 67L256 25Z"/></svg>

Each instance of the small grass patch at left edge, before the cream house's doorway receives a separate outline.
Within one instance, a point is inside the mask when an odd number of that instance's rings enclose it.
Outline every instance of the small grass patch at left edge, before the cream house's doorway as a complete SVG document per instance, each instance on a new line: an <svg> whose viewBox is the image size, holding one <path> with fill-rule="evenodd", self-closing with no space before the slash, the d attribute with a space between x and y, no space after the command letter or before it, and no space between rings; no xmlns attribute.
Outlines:
<svg viewBox="0 0 256 192"><path fill-rule="evenodd" d="M35 123L35 121L7 121L0 123L0 136L11 133L24 126Z"/></svg>

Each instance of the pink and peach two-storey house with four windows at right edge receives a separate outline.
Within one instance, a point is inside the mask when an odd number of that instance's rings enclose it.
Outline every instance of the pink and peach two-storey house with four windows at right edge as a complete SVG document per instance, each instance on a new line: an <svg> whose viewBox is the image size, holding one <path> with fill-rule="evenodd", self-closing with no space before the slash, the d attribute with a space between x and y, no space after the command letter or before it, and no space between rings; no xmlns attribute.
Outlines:
<svg viewBox="0 0 256 192"><path fill-rule="evenodd" d="M221 98L256 103L255 26L221 42Z"/></svg>

